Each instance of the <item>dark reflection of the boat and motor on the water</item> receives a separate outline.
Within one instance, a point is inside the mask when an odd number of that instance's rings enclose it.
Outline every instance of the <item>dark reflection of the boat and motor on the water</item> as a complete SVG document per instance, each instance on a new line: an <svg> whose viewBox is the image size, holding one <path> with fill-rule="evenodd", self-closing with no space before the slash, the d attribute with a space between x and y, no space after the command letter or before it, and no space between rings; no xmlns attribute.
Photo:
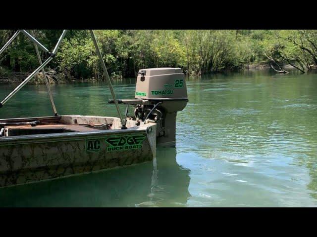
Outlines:
<svg viewBox="0 0 317 237"><path fill-rule="evenodd" d="M188 174L177 164L175 148L166 148L154 163L0 189L0 206L184 205Z"/></svg>

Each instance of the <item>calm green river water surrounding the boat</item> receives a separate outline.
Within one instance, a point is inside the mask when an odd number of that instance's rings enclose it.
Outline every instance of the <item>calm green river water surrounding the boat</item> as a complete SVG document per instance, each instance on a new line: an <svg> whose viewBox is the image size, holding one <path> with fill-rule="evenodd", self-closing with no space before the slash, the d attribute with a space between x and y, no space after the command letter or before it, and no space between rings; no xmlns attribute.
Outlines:
<svg viewBox="0 0 317 237"><path fill-rule="evenodd" d="M133 98L134 85L114 82L117 97ZM317 74L214 75L187 87L176 148L159 147L154 163L0 189L0 206L317 206ZM11 89L1 85L0 98ZM116 116L104 83L52 90L59 114ZM0 109L51 114L42 85Z"/></svg>

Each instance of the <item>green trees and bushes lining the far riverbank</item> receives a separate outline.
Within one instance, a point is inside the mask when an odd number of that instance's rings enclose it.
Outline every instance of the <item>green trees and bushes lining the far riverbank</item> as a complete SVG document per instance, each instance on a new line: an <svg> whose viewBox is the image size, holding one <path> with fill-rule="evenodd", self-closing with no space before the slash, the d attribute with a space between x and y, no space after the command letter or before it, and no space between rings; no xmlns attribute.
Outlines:
<svg viewBox="0 0 317 237"><path fill-rule="evenodd" d="M0 47L14 30L0 30ZM35 30L47 48L60 30ZM188 76L270 69L307 73L317 69L317 30L96 30L109 76L134 78L139 69L178 67ZM42 60L48 57L41 52ZM39 66L34 45L20 34L0 55L0 84L19 83ZM45 68L50 83L103 81L90 35L69 30ZM30 81L44 83L42 73Z"/></svg>

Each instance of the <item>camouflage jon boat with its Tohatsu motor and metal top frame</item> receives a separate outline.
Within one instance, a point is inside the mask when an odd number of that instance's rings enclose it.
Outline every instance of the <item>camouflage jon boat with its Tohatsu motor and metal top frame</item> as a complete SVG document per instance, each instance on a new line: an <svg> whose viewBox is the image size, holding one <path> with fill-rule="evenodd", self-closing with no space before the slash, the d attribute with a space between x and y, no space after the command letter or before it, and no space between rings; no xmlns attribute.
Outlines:
<svg viewBox="0 0 317 237"><path fill-rule="evenodd" d="M51 117L0 119L0 187L60 178L80 173L126 166L152 160L156 145L175 145L177 111L188 98L184 74L179 68L152 68L138 72L134 99L117 100L94 32L90 30L103 66L119 118L58 115L44 67L53 59L63 40L63 31L49 51L25 30L18 30L0 49L23 33L34 42L40 66L6 98L0 107L37 73L42 71L53 113ZM39 48L48 59L42 63ZM122 116L118 104L126 104ZM129 106L134 115L128 116ZM3 109L3 108L2 108Z"/></svg>

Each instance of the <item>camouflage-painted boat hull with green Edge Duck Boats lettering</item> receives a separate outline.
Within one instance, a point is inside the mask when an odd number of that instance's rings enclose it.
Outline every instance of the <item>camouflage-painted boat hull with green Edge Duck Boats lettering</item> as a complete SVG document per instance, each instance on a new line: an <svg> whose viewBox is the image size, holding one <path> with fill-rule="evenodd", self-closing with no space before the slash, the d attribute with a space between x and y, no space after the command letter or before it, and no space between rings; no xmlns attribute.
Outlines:
<svg viewBox="0 0 317 237"><path fill-rule="evenodd" d="M50 118L53 119L18 120ZM128 121L127 129L119 129L119 118L60 118L62 123L70 125L111 120L112 128L0 137L0 187L142 163L156 156L156 123L137 126L135 121ZM0 122L15 120L0 119Z"/></svg>

